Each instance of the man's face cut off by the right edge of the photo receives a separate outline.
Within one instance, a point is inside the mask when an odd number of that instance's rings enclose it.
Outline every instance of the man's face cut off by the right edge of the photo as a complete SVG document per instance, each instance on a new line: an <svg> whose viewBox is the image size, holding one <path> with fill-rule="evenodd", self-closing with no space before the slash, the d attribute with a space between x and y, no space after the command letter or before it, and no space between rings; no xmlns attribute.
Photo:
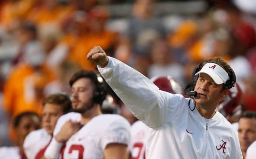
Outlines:
<svg viewBox="0 0 256 159"><path fill-rule="evenodd" d="M238 124L238 137L241 150L246 151L249 145L256 140L256 119L240 118Z"/></svg>

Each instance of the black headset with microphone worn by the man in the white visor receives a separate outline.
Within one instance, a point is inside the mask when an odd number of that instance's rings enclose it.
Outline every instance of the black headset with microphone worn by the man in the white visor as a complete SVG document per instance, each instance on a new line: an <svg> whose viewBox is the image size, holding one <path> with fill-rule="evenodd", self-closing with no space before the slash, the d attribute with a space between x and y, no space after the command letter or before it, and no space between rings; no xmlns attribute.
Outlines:
<svg viewBox="0 0 256 159"><path fill-rule="evenodd" d="M208 62L211 62L211 61L212 61L212 59L204 60L204 61L200 62L195 67L195 69L192 73L192 77L190 79L190 83L184 89L184 94L189 95L191 97L196 97L197 96L197 92L194 91L194 89L195 89L195 84L197 82L197 79L198 79L199 75L195 75L195 74L202 69L204 63L208 63ZM235 81L236 81L235 72L232 68L231 68L231 70L232 70L231 74L228 74L229 80L227 80L224 84L225 87L227 87L228 89L234 87L235 86Z"/></svg>

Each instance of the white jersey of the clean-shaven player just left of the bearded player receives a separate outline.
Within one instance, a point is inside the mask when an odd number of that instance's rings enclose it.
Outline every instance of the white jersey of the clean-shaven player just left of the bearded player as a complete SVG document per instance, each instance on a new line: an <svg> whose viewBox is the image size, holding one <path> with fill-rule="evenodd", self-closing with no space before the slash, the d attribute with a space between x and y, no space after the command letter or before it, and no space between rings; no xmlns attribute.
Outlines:
<svg viewBox="0 0 256 159"><path fill-rule="evenodd" d="M51 139L52 135L48 134L45 129L30 132L23 144L26 157L28 159L41 159Z"/></svg>

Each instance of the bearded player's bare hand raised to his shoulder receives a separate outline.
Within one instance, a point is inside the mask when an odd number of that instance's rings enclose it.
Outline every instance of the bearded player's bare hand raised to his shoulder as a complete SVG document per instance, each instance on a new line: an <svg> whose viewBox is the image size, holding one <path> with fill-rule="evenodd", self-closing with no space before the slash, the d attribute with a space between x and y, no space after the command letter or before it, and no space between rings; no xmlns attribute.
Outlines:
<svg viewBox="0 0 256 159"><path fill-rule="evenodd" d="M80 129L79 122L67 121L61 128L60 132L55 136L57 142L66 142L72 135Z"/></svg>

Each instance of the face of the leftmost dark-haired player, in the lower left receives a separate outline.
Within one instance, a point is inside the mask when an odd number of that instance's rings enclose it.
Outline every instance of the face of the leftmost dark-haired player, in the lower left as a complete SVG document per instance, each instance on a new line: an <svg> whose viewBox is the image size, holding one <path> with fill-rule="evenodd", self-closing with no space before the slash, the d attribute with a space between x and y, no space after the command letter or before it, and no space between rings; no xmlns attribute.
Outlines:
<svg viewBox="0 0 256 159"><path fill-rule="evenodd" d="M21 118L19 125L16 127L15 131L17 133L17 138L22 143L25 137L32 131L40 128L39 118L35 115L27 115Z"/></svg>

